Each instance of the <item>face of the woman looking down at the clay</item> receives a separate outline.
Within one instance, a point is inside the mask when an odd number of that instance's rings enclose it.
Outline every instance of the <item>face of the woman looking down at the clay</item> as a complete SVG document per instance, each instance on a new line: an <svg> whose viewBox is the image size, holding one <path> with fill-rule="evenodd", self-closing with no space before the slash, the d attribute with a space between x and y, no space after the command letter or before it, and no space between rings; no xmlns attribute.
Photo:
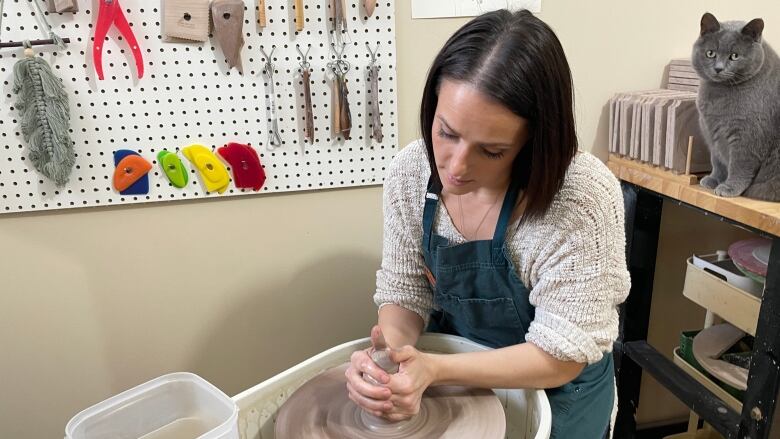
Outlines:
<svg viewBox="0 0 780 439"><path fill-rule="evenodd" d="M471 84L444 79L433 121L433 155L445 191L503 190L528 140L528 123Z"/></svg>

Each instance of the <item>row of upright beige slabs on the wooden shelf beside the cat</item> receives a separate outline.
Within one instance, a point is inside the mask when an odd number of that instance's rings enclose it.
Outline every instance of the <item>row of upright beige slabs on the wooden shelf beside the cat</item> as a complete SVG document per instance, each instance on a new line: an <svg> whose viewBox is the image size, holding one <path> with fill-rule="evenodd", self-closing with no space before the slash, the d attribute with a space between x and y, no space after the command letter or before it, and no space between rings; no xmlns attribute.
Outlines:
<svg viewBox="0 0 780 439"><path fill-rule="evenodd" d="M672 61L670 71L676 67L685 66L682 61ZM697 94L671 86L670 83L667 89L618 93L610 99L609 151L675 173L685 173L692 138L688 171L708 172L709 150L699 129ZM693 84L686 86L694 87Z"/></svg>

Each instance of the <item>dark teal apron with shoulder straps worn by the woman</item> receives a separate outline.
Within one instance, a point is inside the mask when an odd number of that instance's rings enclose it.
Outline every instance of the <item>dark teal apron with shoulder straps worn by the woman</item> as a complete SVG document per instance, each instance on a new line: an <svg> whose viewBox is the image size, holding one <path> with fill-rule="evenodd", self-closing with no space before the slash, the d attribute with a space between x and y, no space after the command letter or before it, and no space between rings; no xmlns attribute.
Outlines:
<svg viewBox="0 0 780 439"><path fill-rule="evenodd" d="M525 342L534 318L529 290L520 280L504 243L519 188L504 198L493 239L450 245L433 233L439 203L429 184L423 213L423 255L434 301L429 332L466 337L492 348ZM614 403L612 354L586 366L572 382L546 389L554 439L601 439Z"/></svg>

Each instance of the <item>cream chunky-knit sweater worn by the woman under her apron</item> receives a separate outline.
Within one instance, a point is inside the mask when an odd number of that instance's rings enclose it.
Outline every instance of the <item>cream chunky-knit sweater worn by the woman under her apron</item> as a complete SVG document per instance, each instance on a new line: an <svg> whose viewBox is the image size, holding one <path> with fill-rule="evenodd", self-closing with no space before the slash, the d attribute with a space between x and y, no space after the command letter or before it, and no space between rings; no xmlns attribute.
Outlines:
<svg viewBox="0 0 780 439"><path fill-rule="evenodd" d="M393 159L384 184L384 247L374 301L396 304L428 322L433 291L425 276L422 217L430 176L422 141ZM561 360L595 363L612 350L617 305L628 295L620 185L604 164L580 152L547 214L511 224L506 243L531 291L535 317L526 341ZM439 203L434 232L466 242Z"/></svg>

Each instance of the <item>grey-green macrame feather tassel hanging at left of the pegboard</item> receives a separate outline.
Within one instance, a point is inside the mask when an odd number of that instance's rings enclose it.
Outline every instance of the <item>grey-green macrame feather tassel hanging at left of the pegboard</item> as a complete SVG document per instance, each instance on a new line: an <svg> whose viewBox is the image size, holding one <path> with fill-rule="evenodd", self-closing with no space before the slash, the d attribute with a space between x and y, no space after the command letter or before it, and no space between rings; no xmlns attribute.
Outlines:
<svg viewBox="0 0 780 439"><path fill-rule="evenodd" d="M16 108L30 161L57 186L64 186L76 155L69 134L68 95L62 81L43 58L28 55L14 65L13 91L18 97Z"/></svg>

